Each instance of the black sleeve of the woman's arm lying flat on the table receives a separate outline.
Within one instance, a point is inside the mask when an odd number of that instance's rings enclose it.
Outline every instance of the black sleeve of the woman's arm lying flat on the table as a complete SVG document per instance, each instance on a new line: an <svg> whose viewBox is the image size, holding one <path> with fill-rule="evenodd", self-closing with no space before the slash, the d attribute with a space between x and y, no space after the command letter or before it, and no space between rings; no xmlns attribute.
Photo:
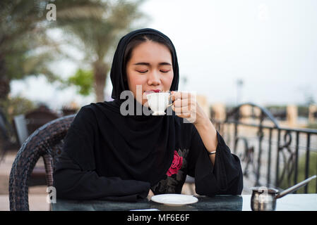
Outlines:
<svg viewBox="0 0 317 225"><path fill-rule="evenodd" d="M64 148L54 165L54 187L57 198L71 200L124 200L145 198L150 184L99 176L95 172L94 134L89 109L76 115L65 137Z"/></svg>

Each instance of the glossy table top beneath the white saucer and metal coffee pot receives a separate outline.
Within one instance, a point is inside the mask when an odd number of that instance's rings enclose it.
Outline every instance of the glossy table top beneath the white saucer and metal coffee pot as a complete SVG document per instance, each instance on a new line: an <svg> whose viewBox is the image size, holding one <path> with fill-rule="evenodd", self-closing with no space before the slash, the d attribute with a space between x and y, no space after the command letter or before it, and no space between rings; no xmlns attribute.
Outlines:
<svg viewBox="0 0 317 225"><path fill-rule="evenodd" d="M52 203L53 211L250 211L251 195L216 195L213 198L196 196L197 203L182 206L168 206L147 198L137 203L104 200L61 200ZM277 211L317 211L317 194L289 194L277 199Z"/></svg>

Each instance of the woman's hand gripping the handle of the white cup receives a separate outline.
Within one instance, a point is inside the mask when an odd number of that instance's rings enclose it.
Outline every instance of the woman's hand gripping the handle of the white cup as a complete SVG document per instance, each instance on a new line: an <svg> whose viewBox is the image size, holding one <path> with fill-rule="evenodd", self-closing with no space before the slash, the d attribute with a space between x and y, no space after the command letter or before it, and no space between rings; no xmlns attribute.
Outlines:
<svg viewBox="0 0 317 225"><path fill-rule="evenodd" d="M194 125L203 124L203 122L209 120L208 116L205 115L201 106L196 101L196 94L172 91L172 110L177 116L186 118L189 122Z"/></svg>

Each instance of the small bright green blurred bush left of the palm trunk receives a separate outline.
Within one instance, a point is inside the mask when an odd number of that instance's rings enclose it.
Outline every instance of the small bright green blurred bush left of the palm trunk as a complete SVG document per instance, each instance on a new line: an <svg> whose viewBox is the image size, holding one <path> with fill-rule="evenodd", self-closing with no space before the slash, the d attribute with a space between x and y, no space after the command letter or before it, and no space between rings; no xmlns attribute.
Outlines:
<svg viewBox="0 0 317 225"><path fill-rule="evenodd" d="M76 74L68 78L69 85L78 86L78 94L88 96L93 88L93 74L92 71L78 69Z"/></svg>

